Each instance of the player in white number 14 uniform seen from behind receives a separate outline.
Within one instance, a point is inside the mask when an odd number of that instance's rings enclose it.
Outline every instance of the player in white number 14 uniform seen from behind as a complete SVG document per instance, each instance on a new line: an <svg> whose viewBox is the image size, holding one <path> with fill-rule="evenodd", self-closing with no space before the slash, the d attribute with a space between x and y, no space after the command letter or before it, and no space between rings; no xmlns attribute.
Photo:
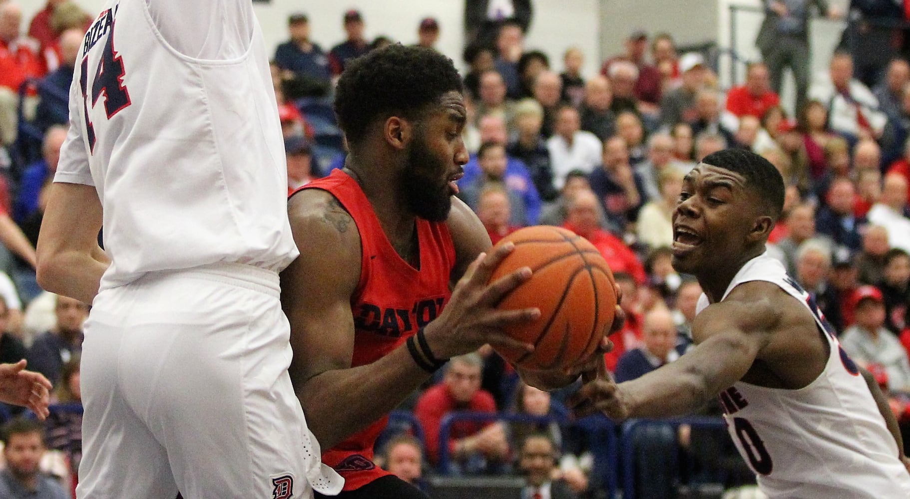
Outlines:
<svg viewBox="0 0 910 499"><path fill-rule="evenodd" d="M93 305L76 495L338 492L287 372L297 249L252 5L108 0L79 60L38 265Z"/></svg>

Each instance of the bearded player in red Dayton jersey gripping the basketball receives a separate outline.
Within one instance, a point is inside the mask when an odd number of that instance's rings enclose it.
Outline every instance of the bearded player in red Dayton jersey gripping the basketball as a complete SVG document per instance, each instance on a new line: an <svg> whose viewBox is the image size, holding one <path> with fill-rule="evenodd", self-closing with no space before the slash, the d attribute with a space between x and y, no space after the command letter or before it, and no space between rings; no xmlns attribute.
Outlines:
<svg viewBox="0 0 910 499"><path fill-rule="evenodd" d="M349 145L345 168L288 202L300 249L281 274L291 379L328 449L323 461L345 478L342 497L426 497L373 464L376 437L389 411L445 359L483 344L532 350L501 327L540 311L495 308L531 271L488 285L514 246L485 254L486 230L453 197L468 151L461 78L450 59L401 45L365 55L341 75L335 111ZM561 386L600 357L568 372L521 374L529 384Z"/></svg>

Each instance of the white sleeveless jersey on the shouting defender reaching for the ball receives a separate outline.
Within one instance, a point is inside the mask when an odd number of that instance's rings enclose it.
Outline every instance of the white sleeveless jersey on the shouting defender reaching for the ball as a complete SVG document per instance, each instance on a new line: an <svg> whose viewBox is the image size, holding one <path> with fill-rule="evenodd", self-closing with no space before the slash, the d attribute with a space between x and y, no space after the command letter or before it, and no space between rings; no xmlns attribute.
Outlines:
<svg viewBox="0 0 910 499"><path fill-rule="evenodd" d="M743 265L723 298L750 281L776 284L804 304L831 350L822 374L799 390L737 382L721 393L727 429L762 492L787 499L910 497L895 439L814 300L767 254ZM703 294L697 312L707 306Z"/></svg>

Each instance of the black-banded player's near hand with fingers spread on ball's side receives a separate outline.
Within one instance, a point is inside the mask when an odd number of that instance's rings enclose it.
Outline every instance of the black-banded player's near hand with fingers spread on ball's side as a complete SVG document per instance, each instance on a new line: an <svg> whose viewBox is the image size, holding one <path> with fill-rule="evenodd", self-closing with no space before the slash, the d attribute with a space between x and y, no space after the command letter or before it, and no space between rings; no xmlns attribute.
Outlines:
<svg viewBox="0 0 910 499"><path fill-rule="evenodd" d="M483 344L532 352L534 345L513 339L503 331L508 324L530 323L541 316L538 308L499 310L496 305L516 287L531 278L531 268L521 267L493 283L490 276L515 245L507 243L481 253L456 284L449 304L427 325L424 334L438 358L468 354Z"/></svg>

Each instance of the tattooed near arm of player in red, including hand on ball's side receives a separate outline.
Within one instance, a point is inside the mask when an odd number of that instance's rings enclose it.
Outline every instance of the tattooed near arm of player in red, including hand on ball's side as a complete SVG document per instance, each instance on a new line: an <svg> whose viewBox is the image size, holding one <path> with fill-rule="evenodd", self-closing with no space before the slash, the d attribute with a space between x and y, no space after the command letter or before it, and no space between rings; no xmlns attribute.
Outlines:
<svg viewBox="0 0 910 499"><path fill-rule="evenodd" d="M290 322L294 350L289 374L310 430L328 449L394 409L430 373L405 344L372 364L351 367L354 318L350 298L360 278L360 235L332 195L308 190L293 196L288 215L300 255L281 273L281 304ZM503 314L478 298L495 298L517 285L517 274L486 286L492 255L469 265L452 301L425 331L431 350L449 357L477 349L490 338L511 342L490 324L521 320L526 311ZM489 293L488 293L489 292Z"/></svg>

